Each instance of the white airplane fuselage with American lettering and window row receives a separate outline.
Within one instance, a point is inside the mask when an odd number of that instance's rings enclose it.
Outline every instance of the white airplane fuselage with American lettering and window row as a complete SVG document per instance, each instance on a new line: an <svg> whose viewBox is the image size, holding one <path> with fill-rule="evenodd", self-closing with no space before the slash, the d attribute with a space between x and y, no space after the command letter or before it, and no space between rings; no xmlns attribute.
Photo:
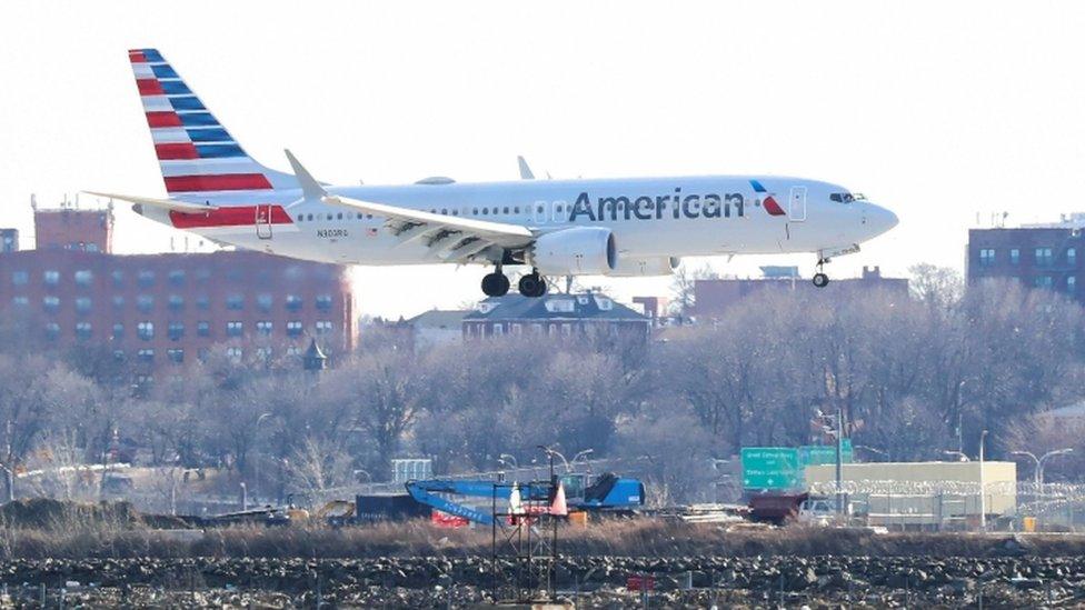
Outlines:
<svg viewBox="0 0 1085 610"><path fill-rule="evenodd" d="M785 177L520 180L327 190L438 214L521 224L540 233L604 227L613 231L621 259L787 252L827 258L854 251L896 224L893 212L852 200L843 187ZM367 266L442 262L425 241L400 243L385 230L385 218L305 200L298 190L215 192L186 199L281 207L285 214L269 214L276 218L273 223L253 218L252 224L180 227L241 248ZM166 212L142 213L173 224Z"/></svg>

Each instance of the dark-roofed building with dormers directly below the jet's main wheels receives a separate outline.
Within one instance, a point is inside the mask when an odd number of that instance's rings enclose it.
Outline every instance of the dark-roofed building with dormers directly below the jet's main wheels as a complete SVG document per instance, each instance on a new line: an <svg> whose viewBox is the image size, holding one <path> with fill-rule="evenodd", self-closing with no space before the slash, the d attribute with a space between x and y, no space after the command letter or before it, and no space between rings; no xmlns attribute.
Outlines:
<svg viewBox="0 0 1085 610"><path fill-rule="evenodd" d="M604 336L647 341L651 319L598 292L491 297L464 317L465 338Z"/></svg>

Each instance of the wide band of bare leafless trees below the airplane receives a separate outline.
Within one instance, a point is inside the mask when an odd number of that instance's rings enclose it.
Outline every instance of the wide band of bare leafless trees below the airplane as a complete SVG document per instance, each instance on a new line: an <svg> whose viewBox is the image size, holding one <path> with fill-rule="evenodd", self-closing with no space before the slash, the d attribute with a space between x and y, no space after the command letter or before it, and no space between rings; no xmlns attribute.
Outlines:
<svg viewBox="0 0 1085 610"><path fill-rule="evenodd" d="M223 349L145 392L117 384L93 350L12 347L0 354L4 463L98 462L122 444L155 464L313 490L381 480L395 457L492 470L557 443L639 460L673 499L704 499L711 459L808 443L818 411L843 410L868 460L945 459L958 442L975 453L982 430L992 458L1085 444L1036 417L1085 394L1082 309L1016 282L962 291L945 271L916 271L910 297L765 291L640 347L524 336L417 351L374 331L319 376ZM1053 463L1048 479L1081 466Z"/></svg>

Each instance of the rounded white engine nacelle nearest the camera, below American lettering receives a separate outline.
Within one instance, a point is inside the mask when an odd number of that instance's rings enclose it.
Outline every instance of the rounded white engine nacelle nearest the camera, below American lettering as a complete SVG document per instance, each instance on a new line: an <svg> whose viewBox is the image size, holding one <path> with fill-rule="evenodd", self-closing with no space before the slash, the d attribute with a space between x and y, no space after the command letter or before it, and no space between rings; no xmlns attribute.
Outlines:
<svg viewBox="0 0 1085 610"><path fill-rule="evenodd" d="M618 262L618 249L610 229L573 227L539 236L527 258L544 276L606 276Z"/></svg>

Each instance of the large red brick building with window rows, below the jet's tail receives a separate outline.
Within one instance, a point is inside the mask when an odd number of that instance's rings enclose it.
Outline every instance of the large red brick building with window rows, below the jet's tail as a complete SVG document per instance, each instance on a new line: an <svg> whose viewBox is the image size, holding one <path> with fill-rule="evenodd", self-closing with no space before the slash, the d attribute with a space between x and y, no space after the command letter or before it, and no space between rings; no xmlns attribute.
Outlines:
<svg viewBox="0 0 1085 610"><path fill-rule="evenodd" d="M111 210L36 210L37 250L0 253L0 312L46 348L102 346L137 373L226 344L332 357L355 346L347 268L259 252L119 256ZM299 364L300 366L300 364Z"/></svg>

